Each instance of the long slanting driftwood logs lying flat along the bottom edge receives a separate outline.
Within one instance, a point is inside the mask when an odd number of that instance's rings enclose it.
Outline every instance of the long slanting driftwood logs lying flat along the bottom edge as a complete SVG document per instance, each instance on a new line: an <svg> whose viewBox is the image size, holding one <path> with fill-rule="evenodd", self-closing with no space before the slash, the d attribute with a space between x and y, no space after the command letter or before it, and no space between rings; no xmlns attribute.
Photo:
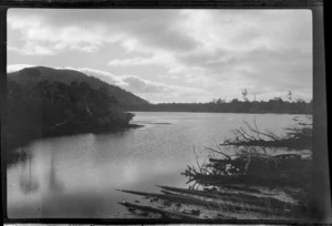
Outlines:
<svg viewBox="0 0 332 226"><path fill-rule="evenodd" d="M301 213L301 209L303 208L303 206L298 205L297 203L282 202L273 197L264 198L245 194L235 195L232 193L221 194L211 191L189 191L169 186L158 187L163 188L162 192L164 194L135 191L121 192L149 197L152 198L151 202L154 201L154 203L158 199L164 199L167 201L167 205L165 203L158 203L159 205L138 205L127 202L122 202L120 204L126 206L133 213L137 209L144 213L159 214L160 217L165 218L181 219L203 219L204 216L201 216L201 213L207 212L215 213L212 218L225 218L227 213L236 213L238 215L246 215L250 213L251 215L261 217L268 216L272 218L286 218ZM186 206L186 208L179 209L180 206ZM138 213L136 214L138 215ZM228 216L231 218L230 215Z"/></svg>

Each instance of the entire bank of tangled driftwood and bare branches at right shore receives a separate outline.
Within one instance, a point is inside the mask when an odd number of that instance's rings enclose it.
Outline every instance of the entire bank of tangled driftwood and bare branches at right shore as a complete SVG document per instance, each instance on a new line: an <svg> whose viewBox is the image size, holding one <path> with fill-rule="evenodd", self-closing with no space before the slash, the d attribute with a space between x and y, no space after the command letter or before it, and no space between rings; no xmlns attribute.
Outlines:
<svg viewBox="0 0 332 226"><path fill-rule="evenodd" d="M122 191L146 198L120 204L138 217L195 223L207 219L309 223L312 126L299 123L284 136L262 132L256 124L234 132L232 138L206 147L208 155L203 163L197 158L196 166L187 166L183 175L189 188L158 186L162 193ZM298 146L300 143L308 150ZM234 152L226 152L225 147Z"/></svg>

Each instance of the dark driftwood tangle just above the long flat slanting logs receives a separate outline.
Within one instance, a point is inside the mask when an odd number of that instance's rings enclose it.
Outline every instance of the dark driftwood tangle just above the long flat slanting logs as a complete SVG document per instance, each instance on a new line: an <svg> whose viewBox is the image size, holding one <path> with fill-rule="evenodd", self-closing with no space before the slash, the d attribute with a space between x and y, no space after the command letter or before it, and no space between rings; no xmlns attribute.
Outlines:
<svg viewBox="0 0 332 226"><path fill-rule="evenodd" d="M311 160L297 154L241 154L236 158L209 158L205 168L188 166L188 183L204 186L303 186L310 182Z"/></svg>

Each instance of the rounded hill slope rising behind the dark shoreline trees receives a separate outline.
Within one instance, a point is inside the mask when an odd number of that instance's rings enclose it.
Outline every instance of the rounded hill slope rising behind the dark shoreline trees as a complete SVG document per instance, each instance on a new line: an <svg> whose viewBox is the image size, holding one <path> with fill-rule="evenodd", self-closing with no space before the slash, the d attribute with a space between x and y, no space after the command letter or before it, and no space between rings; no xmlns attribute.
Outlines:
<svg viewBox="0 0 332 226"><path fill-rule="evenodd" d="M147 104L148 102L127 92L116 85L103 82L94 76L89 76L84 73L74 70L64 69L51 69L46 66L34 66L22 69L17 72L8 74L8 81L14 81L25 89L32 89L37 83L42 81L48 81L49 83L62 82L70 85L71 82L76 81L86 82L92 89L102 88L108 96L114 96L122 105L136 105L136 104Z"/></svg>

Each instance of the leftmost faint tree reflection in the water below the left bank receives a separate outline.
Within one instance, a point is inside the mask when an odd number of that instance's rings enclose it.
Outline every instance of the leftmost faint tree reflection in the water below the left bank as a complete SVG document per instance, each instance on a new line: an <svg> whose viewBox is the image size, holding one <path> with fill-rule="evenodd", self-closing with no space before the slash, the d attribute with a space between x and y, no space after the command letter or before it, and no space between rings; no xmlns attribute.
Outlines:
<svg viewBox="0 0 332 226"><path fill-rule="evenodd" d="M40 185L35 177L32 175L32 156L29 154L27 155L27 161L22 165L23 171L29 167L28 173L21 173L20 177L20 188L24 194L38 192ZM27 172L27 171L25 171ZM28 175L27 175L28 174Z"/></svg>

